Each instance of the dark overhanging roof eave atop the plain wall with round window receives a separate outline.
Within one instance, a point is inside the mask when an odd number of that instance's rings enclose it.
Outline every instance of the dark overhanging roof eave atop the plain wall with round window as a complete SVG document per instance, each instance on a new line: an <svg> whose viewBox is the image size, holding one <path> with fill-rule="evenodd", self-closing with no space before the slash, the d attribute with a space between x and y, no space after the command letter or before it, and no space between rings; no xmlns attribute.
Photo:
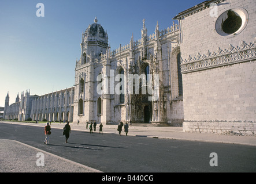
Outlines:
<svg viewBox="0 0 256 184"><path fill-rule="evenodd" d="M190 9L187 9L185 11L182 11L181 13L177 14L177 16L173 17L173 20L180 20L184 17L190 16L191 14L197 13L198 11L207 9L211 3L221 3L225 0L211 0L211 1L204 1L202 3L199 3L198 5L195 5L191 7Z"/></svg>

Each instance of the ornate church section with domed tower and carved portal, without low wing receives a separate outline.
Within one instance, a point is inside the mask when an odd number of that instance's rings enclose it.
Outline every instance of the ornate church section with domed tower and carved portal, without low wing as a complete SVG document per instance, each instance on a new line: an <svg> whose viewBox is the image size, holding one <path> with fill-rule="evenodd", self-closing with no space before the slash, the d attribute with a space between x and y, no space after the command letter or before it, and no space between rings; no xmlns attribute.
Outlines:
<svg viewBox="0 0 256 184"><path fill-rule="evenodd" d="M95 120L103 124L120 121L182 123L183 112L177 111L183 110L183 98L172 103L179 97L179 25L173 22L170 28L160 31L157 23L155 33L147 35L143 20L140 40L134 41L132 36L129 44L110 51L107 33L97 22L95 19L82 33L81 57L75 69L74 120ZM123 74L124 78L117 78L118 74ZM138 89L136 81L131 86L126 85L129 76L143 74L151 74L149 81L159 85L150 87L142 81L138 82ZM143 89L148 90L146 94L142 93ZM149 90L158 94L157 100L149 100L152 97Z"/></svg>

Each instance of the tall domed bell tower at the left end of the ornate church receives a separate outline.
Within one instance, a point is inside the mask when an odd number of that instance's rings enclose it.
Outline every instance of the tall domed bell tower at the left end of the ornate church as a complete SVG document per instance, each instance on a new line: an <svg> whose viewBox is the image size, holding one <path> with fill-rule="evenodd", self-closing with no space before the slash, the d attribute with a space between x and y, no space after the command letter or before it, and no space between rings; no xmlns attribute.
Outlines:
<svg viewBox="0 0 256 184"><path fill-rule="evenodd" d="M73 120L96 120L94 116L95 63L108 52L107 32L98 24L97 17L81 37L81 57L76 62Z"/></svg>

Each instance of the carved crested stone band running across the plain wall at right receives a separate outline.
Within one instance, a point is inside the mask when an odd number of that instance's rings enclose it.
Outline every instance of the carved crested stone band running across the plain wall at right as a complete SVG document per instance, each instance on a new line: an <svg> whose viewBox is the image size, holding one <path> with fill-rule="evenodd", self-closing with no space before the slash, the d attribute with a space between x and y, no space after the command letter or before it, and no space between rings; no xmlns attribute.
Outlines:
<svg viewBox="0 0 256 184"><path fill-rule="evenodd" d="M197 53L193 58L191 56L188 56L188 59L185 60L181 58L180 66L181 72L184 74L227 64L246 62L252 59L256 59L256 38L253 43L247 44L245 41L241 41L240 45L236 47L229 44L227 49L218 47L216 52L208 50L205 54Z"/></svg>

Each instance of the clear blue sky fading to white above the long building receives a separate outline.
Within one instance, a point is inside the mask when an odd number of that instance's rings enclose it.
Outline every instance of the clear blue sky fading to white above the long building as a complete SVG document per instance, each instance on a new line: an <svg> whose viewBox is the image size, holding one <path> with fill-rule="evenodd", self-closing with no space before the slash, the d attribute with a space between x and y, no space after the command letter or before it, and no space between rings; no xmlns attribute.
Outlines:
<svg viewBox="0 0 256 184"><path fill-rule="evenodd" d="M9 91L13 104L21 92L44 95L75 84L81 33L97 16L111 50L139 40L145 18L147 33L172 25L172 18L203 0L1 0L0 106ZM44 17L36 4L43 3ZM177 22L176 22L177 23Z"/></svg>

